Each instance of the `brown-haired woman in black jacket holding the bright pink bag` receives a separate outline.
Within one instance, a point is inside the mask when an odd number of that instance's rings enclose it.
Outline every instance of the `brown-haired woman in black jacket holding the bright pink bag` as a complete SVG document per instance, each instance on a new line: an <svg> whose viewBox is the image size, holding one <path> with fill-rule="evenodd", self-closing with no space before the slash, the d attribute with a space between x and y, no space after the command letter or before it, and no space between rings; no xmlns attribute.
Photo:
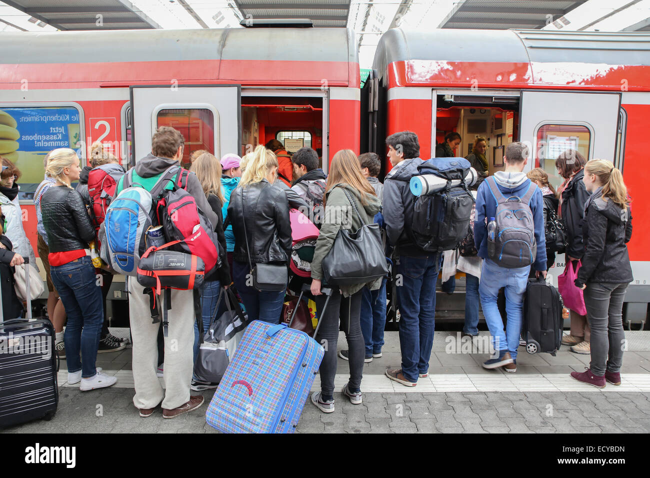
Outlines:
<svg viewBox="0 0 650 478"><path fill-rule="evenodd" d="M589 193L584 189L584 165L587 160L575 150L567 150L555 160L555 167L560 176L565 179L564 185L558 188L560 195L560 213L567 233L567 247L564 260L575 262L582 259L584 243L582 242L582 219L584 204ZM571 264L573 267L574 265ZM571 334L562 337L562 345L571 345L571 352L590 354L591 330L586 315L571 310Z"/></svg>

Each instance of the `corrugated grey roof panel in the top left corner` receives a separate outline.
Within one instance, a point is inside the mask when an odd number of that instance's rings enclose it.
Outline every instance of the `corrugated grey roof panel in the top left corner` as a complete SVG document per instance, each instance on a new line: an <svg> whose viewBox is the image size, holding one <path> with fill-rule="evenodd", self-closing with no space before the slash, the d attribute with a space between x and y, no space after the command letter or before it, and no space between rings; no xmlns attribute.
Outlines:
<svg viewBox="0 0 650 478"><path fill-rule="evenodd" d="M158 29L151 20L126 0L3 0L37 20L59 30Z"/></svg>

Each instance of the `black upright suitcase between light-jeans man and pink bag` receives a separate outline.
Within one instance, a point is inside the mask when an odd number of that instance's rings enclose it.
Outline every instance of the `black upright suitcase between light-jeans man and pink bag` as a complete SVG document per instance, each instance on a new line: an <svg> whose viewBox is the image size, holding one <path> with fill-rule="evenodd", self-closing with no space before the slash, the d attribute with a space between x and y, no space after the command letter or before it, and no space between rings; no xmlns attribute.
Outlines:
<svg viewBox="0 0 650 478"><path fill-rule="evenodd" d="M562 299L558 289L541 276L528 279L521 337L526 352L555 355L562 343Z"/></svg>

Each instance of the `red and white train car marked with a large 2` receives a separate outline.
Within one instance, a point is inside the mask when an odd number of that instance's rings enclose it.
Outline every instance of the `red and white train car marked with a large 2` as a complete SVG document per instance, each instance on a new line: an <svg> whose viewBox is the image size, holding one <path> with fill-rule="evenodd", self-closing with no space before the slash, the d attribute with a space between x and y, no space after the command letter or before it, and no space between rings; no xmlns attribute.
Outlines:
<svg viewBox="0 0 650 478"><path fill-rule="evenodd" d="M84 164L99 141L132 166L168 125L185 136L185 166L196 150L242 155L274 138L321 152L325 170L337 150L359 150L349 29L21 32L0 42L0 154L22 172L35 252L32 196L55 148L75 148ZM109 297L124 299L122 288Z"/></svg>

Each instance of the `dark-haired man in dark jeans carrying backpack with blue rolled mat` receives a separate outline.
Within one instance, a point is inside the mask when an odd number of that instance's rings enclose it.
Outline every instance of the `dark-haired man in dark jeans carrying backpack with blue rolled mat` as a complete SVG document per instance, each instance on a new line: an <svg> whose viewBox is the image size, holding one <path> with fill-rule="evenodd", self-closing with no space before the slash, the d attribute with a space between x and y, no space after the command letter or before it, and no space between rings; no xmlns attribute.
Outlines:
<svg viewBox="0 0 650 478"><path fill-rule="evenodd" d="M400 310L402 367L387 369L386 376L413 387L427 377L434 345L435 282L441 256L422 250L413 241L411 222L415 196L409 181L422 164L417 135L402 131L386 139L393 169L383 183L383 218L389 243L395 246L396 290Z"/></svg>

